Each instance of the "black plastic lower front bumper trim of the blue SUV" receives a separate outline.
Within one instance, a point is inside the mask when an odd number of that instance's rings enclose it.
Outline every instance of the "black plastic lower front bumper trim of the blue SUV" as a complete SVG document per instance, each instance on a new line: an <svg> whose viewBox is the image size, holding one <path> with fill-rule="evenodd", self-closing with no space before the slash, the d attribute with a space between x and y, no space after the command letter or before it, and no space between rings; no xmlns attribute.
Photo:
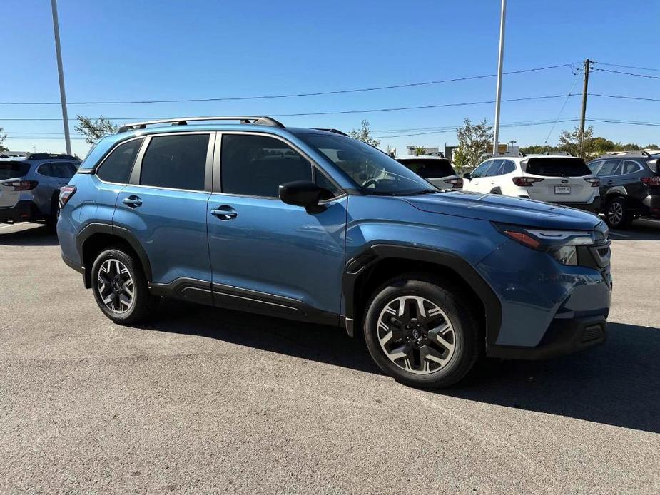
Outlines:
<svg viewBox="0 0 660 495"><path fill-rule="evenodd" d="M488 357L502 359L550 359L603 344L607 339L604 316L554 320L535 347L489 345Z"/></svg>

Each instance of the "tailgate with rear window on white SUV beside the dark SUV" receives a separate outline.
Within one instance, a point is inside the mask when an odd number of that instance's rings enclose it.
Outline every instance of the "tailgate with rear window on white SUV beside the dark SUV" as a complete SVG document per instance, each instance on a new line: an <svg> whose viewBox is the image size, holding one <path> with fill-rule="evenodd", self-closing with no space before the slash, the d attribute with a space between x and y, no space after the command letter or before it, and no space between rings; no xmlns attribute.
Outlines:
<svg viewBox="0 0 660 495"><path fill-rule="evenodd" d="M529 189L529 198L549 203L592 203L598 189L586 179L592 172L582 158L529 158L525 175L540 178Z"/></svg>

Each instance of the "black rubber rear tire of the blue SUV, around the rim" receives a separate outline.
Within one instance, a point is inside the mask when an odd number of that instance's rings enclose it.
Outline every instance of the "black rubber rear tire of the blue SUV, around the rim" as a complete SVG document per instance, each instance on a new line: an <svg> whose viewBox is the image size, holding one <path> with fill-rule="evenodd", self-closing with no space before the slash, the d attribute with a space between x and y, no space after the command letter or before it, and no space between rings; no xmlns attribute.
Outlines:
<svg viewBox="0 0 660 495"><path fill-rule="evenodd" d="M112 307L108 307L106 302L103 301L98 282L99 271L101 271L101 267L108 262L108 260L117 260L120 262L123 267L126 267L128 275L131 277L133 296L131 304L128 305L126 310L123 310L123 305L119 306L119 310L113 310ZM113 265L112 261L111 265ZM158 302L160 301L160 297L153 296L149 292L149 287L140 261L132 254L126 252L121 246L107 248L96 257L96 260L94 260L92 265L91 286L92 292L94 293L94 299L96 299L96 304L101 308L103 314L119 325L133 325L148 320L156 310ZM119 295L121 294L122 293L119 292ZM123 292L123 295L127 297L128 292Z"/></svg>

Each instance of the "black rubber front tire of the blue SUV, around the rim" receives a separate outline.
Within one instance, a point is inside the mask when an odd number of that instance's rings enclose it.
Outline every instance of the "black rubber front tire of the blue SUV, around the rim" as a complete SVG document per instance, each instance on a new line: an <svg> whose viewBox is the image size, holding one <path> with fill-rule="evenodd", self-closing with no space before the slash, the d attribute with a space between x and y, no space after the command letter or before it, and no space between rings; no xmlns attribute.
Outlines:
<svg viewBox="0 0 660 495"><path fill-rule="evenodd" d="M384 331L382 327L380 330L378 327L381 314L385 314L385 307L392 301L403 296L422 297L437 305L448 317L453 328L453 354L448 358L446 364L427 374L407 371L387 357L380 344L378 333ZM484 331L474 317L474 311L463 302L463 299L460 297L459 290L451 285L445 285L441 280L423 274L405 274L385 282L372 295L365 317L365 342L371 357L382 371L392 376L397 382L412 387L439 389L459 382L474 367L484 346ZM392 318L390 317L390 319ZM427 336L426 333L423 335ZM408 345L405 342L404 344ZM392 346L394 345L399 344L392 344ZM419 360L419 354L417 354L415 362L419 362Z"/></svg>

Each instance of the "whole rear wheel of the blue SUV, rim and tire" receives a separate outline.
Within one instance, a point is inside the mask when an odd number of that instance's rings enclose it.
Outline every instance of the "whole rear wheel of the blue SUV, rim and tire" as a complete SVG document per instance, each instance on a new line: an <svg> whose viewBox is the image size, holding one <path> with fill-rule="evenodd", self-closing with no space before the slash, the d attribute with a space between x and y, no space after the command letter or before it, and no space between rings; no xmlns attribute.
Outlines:
<svg viewBox="0 0 660 495"><path fill-rule="evenodd" d="M139 260L121 247L108 248L96 257L91 285L98 307L121 325L146 320L158 305Z"/></svg>

